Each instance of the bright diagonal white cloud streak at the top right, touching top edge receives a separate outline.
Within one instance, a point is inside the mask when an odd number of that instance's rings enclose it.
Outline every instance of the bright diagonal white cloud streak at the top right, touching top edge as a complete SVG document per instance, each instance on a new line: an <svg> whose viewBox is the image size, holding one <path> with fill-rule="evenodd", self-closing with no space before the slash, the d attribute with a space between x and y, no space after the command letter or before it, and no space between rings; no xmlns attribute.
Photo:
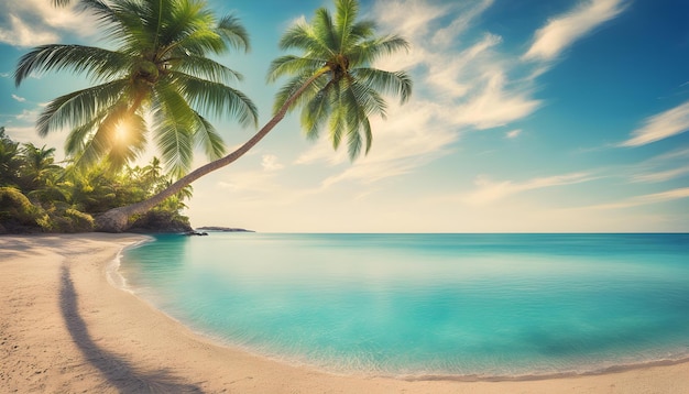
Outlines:
<svg viewBox="0 0 689 394"><path fill-rule="evenodd" d="M624 0L581 2L572 11L548 21L545 26L536 31L534 42L523 58L551 61L573 42L619 15L624 8Z"/></svg>

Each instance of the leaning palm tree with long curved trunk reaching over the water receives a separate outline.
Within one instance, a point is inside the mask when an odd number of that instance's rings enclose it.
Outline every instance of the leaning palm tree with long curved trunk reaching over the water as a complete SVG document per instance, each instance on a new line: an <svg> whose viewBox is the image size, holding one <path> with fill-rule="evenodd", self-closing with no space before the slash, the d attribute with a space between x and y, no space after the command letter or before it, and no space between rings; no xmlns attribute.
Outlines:
<svg viewBox="0 0 689 394"><path fill-rule="evenodd" d="M70 1L53 2L64 6ZM91 2L96 0L81 0L81 3ZM122 1L131 2L135 1ZM336 149L342 138L347 139L352 160L360 154L362 140L365 141L368 153L372 141L369 117L385 116L385 100L382 95L397 95L403 103L412 92L411 78L404 72L383 72L372 68L371 64L382 55L408 48L408 44L396 35L376 36L372 21L357 21L359 4L356 0L335 0L335 17L327 9L320 8L310 24L295 24L281 40L282 50L299 50L302 54L282 56L271 64L269 81L276 81L284 76L291 79L276 96L273 118L256 134L234 152L193 171L157 195L107 211L97 218L97 229L108 232L123 231L129 217L153 208L194 180L241 157L273 130L288 111L297 107L303 107L302 123L307 136L315 138L321 128L327 127ZM103 59L106 62L109 59ZM161 67L150 58L144 58L143 62L144 66L139 70L143 75L144 84L149 78L161 78L167 72L167 66ZM154 75L156 72L151 64L156 65L157 75ZM106 74L109 72L106 65L99 67L89 70ZM29 72L23 73L23 76ZM232 108L240 114L240 119L247 119L237 106Z"/></svg>

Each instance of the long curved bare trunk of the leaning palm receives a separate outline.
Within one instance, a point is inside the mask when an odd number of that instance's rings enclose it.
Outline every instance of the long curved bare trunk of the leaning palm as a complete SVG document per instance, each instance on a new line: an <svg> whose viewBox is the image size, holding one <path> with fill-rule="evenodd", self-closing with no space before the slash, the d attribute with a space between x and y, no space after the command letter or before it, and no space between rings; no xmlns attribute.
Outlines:
<svg viewBox="0 0 689 394"><path fill-rule="evenodd" d="M96 218L96 231L101 232L122 232L129 228L129 218L133 215L143 214L156 205L163 203L167 197L174 196L179 193L187 185L193 183L194 180L200 178L201 176L211 173L216 169L222 168L230 163L234 162L239 157L243 156L244 153L249 152L255 144L258 144L273 128L280 123L280 121L287 113L287 109L292 106L292 103L308 88L308 86L318 78L321 74L327 72L327 69L321 69L316 73L313 77L310 77L297 91L294 92L285 103L280 108L277 113L263 127L259 132L256 132L249 141L247 141L243 145L238 147L234 152L228 154L227 156L219 158L215 162L210 162L206 165L203 165L186 176L179 178L174 184L169 185L166 189L156 194L155 196L145 199L141 203L128 205L124 207L112 208L101 216Z"/></svg>

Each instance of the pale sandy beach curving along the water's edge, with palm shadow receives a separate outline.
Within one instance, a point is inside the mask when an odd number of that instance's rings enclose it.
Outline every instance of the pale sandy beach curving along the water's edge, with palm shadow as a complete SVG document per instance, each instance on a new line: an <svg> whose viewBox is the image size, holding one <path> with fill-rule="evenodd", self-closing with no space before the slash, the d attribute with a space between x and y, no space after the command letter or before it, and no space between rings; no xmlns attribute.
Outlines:
<svg viewBox="0 0 689 394"><path fill-rule="evenodd" d="M109 285L133 234L0 237L1 393L689 393L689 363L505 382L341 376L216 346Z"/></svg>

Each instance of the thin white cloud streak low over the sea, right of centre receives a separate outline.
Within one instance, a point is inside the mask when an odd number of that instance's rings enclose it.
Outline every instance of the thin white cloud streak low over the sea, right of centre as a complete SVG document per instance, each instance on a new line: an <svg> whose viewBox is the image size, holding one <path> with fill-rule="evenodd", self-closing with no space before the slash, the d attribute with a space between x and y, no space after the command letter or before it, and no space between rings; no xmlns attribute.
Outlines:
<svg viewBox="0 0 689 394"><path fill-rule="evenodd" d="M472 206L483 206L522 191L579 184L591 179L593 177L588 173L555 175L528 179L522 183L512 180L493 182L485 176L478 176L474 182L477 189L461 196L460 199Z"/></svg>

